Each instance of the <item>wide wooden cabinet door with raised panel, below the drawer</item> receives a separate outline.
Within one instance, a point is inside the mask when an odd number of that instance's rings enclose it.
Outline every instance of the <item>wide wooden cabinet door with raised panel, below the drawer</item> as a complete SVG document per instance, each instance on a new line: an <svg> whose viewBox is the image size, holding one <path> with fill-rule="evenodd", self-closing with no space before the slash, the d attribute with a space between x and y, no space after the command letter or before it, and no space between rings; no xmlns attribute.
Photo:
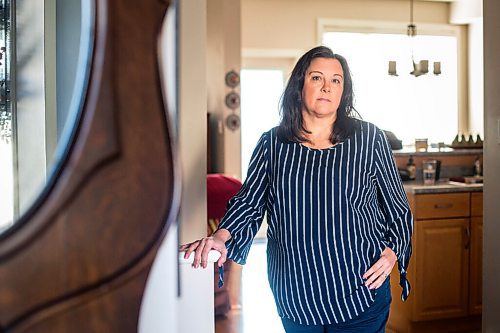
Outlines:
<svg viewBox="0 0 500 333"><path fill-rule="evenodd" d="M415 320L467 315L468 228L469 219L416 221Z"/></svg>

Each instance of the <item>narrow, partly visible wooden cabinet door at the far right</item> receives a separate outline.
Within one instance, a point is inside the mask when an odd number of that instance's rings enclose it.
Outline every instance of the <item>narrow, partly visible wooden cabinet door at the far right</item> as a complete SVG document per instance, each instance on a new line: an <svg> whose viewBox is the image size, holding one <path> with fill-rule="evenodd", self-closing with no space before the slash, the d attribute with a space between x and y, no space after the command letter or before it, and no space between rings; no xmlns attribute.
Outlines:
<svg viewBox="0 0 500 333"><path fill-rule="evenodd" d="M481 314L483 303L483 218L471 219L469 313Z"/></svg>

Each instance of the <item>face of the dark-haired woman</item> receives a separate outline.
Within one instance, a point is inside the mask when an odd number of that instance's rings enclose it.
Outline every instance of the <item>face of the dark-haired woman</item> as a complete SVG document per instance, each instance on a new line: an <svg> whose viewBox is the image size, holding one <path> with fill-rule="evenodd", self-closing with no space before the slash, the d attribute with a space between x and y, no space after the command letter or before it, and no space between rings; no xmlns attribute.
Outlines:
<svg viewBox="0 0 500 333"><path fill-rule="evenodd" d="M304 76L302 112L335 120L344 91L344 71L337 59L315 58Z"/></svg>

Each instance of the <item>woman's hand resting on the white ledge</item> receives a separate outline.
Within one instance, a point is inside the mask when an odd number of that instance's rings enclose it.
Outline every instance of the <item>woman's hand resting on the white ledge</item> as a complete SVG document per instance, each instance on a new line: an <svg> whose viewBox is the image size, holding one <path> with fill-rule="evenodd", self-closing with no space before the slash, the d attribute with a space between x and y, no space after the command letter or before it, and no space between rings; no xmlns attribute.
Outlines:
<svg viewBox="0 0 500 333"><path fill-rule="evenodd" d="M219 229L214 234L208 237L203 237L192 243L184 244L179 247L179 251L185 251L184 259L189 258L192 252L194 252L193 267L198 268L199 266L207 267L207 258L210 250L219 251L221 256L217 260L217 266L221 267L227 259L227 249L226 241L231 238L229 231L225 229Z"/></svg>

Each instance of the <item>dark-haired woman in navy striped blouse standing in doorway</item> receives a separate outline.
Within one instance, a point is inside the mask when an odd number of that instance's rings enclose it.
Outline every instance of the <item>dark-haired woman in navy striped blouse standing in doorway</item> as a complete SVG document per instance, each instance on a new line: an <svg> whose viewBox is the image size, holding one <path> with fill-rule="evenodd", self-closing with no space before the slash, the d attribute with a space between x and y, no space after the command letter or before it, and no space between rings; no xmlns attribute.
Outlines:
<svg viewBox="0 0 500 333"><path fill-rule="evenodd" d="M413 217L383 132L354 118L346 60L319 46L292 71L218 230L181 247L244 264L264 213L268 277L286 332L384 332L389 274L409 284Z"/></svg>

